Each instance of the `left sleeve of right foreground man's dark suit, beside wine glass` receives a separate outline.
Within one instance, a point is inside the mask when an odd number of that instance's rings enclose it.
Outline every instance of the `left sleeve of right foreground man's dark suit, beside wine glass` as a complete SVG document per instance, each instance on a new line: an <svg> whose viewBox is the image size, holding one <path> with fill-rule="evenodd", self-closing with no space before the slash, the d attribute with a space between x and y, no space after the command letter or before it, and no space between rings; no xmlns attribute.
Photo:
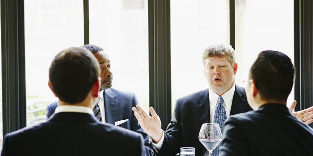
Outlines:
<svg viewBox="0 0 313 156"><path fill-rule="evenodd" d="M219 156L249 156L247 141L244 132L240 129L240 123L242 121L234 117L226 120Z"/></svg>

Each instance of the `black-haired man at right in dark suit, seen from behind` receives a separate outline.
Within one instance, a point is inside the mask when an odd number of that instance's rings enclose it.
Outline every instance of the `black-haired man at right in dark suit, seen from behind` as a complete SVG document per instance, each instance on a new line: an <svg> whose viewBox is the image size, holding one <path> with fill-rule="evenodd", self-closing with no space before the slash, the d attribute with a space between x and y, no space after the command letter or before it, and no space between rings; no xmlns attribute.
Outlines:
<svg viewBox="0 0 313 156"><path fill-rule="evenodd" d="M286 107L294 74L284 53L258 55L246 84L247 99L255 111L227 119L220 156L313 156L313 129Z"/></svg>

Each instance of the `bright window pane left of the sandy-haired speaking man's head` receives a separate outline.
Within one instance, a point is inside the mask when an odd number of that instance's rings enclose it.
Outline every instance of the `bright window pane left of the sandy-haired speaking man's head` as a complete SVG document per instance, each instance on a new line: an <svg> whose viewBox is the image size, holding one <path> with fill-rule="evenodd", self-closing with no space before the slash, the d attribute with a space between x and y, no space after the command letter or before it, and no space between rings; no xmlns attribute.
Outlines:
<svg viewBox="0 0 313 156"><path fill-rule="evenodd" d="M228 12L228 0L170 1L172 112L177 98L208 88L202 54L229 44Z"/></svg>

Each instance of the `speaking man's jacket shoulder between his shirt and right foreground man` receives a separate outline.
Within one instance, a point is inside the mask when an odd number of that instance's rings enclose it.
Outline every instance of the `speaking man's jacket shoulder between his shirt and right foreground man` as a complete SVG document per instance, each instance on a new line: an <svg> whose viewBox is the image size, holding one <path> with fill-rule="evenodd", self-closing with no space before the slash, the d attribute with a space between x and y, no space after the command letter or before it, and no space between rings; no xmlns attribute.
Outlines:
<svg viewBox="0 0 313 156"><path fill-rule="evenodd" d="M242 87L235 85L235 92L233 97L233 103L230 109L230 115L238 114L243 111L244 106L248 104L245 97L245 90Z"/></svg>

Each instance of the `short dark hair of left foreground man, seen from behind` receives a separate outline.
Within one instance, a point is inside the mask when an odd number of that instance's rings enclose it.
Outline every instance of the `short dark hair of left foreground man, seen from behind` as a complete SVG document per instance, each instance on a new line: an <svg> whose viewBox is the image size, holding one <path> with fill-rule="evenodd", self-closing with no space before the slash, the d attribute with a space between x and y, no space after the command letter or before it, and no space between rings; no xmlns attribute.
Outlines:
<svg viewBox="0 0 313 156"><path fill-rule="evenodd" d="M49 81L60 100L82 102L99 77L99 64L90 51L72 47L58 53L49 68Z"/></svg>

